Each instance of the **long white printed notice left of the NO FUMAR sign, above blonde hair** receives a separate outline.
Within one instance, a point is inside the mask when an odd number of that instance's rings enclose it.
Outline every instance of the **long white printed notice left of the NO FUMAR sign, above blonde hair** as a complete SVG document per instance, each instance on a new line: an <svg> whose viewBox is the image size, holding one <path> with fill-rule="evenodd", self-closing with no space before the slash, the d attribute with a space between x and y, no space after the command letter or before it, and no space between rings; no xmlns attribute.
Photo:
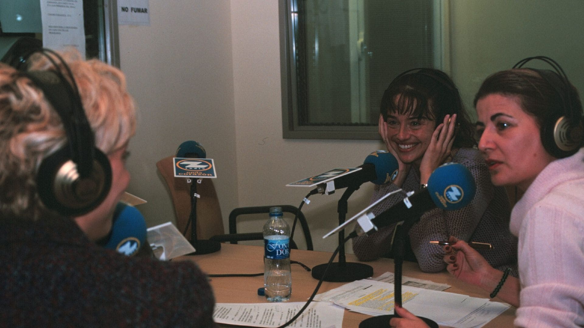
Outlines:
<svg viewBox="0 0 584 328"><path fill-rule="evenodd" d="M43 47L64 50L74 47L85 58L83 0L40 0Z"/></svg>

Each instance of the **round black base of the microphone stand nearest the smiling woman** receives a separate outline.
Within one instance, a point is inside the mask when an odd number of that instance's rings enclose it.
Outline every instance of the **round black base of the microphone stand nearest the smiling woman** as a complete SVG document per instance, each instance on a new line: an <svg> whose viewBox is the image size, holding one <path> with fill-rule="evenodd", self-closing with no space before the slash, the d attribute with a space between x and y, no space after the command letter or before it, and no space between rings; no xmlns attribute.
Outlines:
<svg viewBox="0 0 584 328"><path fill-rule="evenodd" d="M312 268L312 278L320 280L325 273L325 264L318 264ZM361 280L365 278L373 277L373 267L368 266L363 263L354 262L333 262L326 275L324 276L324 281L328 282L350 282L355 280Z"/></svg>

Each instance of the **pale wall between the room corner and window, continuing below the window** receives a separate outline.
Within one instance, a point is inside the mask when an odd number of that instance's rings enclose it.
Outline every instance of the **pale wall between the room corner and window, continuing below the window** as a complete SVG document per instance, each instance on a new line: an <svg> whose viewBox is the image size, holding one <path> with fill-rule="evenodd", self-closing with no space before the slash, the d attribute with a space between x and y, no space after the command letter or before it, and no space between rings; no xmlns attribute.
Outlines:
<svg viewBox="0 0 584 328"><path fill-rule="evenodd" d="M360 165L371 151L381 147L378 141L282 138L278 17L277 1L231 2L240 206L298 206L310 189L285 187L287 183L333 168ZM371 185L364 185L353 194L347 218L369 203L371 190ZM303 207L317 250L334 250L338 245L335 237L321 237L338 225L336 204L341 195L342 191L314 195ZM260 229L266 219L241 226ZM350 244L346 249L349 252Z"/></svg>

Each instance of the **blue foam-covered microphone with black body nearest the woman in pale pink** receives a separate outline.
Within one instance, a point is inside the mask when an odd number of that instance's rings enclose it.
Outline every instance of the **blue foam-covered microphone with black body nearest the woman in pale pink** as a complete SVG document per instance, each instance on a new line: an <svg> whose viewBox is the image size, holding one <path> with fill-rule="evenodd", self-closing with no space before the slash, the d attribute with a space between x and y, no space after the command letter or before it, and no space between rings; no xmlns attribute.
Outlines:
<svg viewBox="0 0 584 328"><path fill-rule="evenodd" d="M410 218L419 219L433 208L459 210L471 202L476 189L474 177L464 165L446 163L432 172L426 188L416 191L377 216L367 213L367 218L358 219L354 233L359 236L364 233L370 235L384 226Z"/></svg>

